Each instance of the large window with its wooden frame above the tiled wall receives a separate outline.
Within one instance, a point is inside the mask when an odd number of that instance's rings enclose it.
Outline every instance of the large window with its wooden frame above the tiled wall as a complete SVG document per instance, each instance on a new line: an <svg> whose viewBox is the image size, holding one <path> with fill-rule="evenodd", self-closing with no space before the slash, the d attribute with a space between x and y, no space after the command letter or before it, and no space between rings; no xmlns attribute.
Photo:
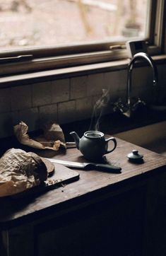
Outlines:
<svg viewBox="0 0 166 256"><path fill-rule="evenodd" d="M4 74L119 59L126 57L125 41L138 38L159 53L164 5L165 0L0 0Z"/></svg>

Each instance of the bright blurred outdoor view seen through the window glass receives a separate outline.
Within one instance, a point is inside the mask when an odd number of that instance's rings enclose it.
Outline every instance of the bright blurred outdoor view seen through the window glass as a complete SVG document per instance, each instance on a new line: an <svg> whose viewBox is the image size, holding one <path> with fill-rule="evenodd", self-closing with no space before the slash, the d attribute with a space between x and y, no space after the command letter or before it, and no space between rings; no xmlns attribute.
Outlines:
<svg viewBox="0 0 166 256"><path fill-rule="evenodd" d="M1 50L145 37L149 0L0 0Z"/></svg>

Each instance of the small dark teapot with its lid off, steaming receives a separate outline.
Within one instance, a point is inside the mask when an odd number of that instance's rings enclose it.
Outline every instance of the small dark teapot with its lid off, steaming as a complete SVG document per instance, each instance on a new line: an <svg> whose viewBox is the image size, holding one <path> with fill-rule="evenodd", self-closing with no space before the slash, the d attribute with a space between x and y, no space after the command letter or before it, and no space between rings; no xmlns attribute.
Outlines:
<svg viewBox="0 0 166 256"><path fill-rule="evenodd" d="M99 161L107 153L114 151L117 147L117 141L114 137L105 139L105 134L98 131L85 132L80 138L76 132L70 132L76 143L76 148L81 151L85 158L91 161ZM113 141L114 146L108 150L108 141Z"/></svg>

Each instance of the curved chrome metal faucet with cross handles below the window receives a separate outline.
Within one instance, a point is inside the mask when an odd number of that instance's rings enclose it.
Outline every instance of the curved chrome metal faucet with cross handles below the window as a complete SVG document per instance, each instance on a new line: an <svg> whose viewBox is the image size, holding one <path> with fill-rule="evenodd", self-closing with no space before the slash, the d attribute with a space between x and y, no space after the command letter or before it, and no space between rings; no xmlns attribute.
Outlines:
<svg viewBox="0 0 166 256"><path fill-rule="evenodd" d="M129 62L128 66L128 74L127 74L127 88L126 88L126 103L122 103L121 99L117 101L117 103L114 103L114 111L119 111L123 115L126 115L126 117L131 117L132 112L138 108L138 106L146 105L146 103L138 98L136 103L131 105L131 74L133 71L134 63L137 59L146 59L146 61L150 64L152 70L153 70L153 86L157 86L158 83L158 69L155 65L155 62L153 59L146 54L145 52L138 52L134 55L134 57Z"/></svg>

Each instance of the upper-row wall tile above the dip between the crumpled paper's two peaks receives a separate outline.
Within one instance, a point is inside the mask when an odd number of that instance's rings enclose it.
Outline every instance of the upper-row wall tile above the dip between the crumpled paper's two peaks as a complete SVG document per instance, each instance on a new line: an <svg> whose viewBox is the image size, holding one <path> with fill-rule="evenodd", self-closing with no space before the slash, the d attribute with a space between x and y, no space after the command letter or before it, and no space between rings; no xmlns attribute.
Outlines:
<svg viewBox="0 0 166 256"><path fill-rule="evenodd" d="M32 106L37 107L52 103L51 81L32 85Z"/></svg>

